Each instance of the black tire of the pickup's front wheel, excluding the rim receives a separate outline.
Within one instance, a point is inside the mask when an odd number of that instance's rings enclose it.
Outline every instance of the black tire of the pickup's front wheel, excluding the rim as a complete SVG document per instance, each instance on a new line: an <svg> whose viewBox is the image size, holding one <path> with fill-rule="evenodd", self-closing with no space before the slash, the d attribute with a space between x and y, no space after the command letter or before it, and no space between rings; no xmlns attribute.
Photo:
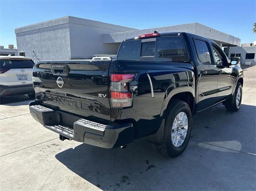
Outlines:
<svg viewBox="0 0 256 191"><path fill-rule="evenodd" d="M236 96L237 96L237 93L238 93L238 89L240 89L240 102L237 105L236 104ZM223 103L225 108L226 108L226 110L236 112L236 111L238 111L240 109L241 102L242 102L242 95L243 95L243 91L242 90L243 90L242 89L242 84L240 82L238 82L236 84L236 89L235 89L234 95L229 100L226 100Z"/></svg>

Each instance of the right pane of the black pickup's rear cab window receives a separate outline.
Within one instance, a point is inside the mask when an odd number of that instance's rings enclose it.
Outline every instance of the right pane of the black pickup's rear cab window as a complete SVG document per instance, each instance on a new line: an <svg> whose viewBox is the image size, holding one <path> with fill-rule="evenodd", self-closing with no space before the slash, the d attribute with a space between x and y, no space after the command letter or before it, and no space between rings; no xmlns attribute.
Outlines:
<svg viewBox="0 0 256 191"><path fill-rule="evenodd" d="M155 61L187 61L188 55L182 37L160 37L156 40Z"/></svg>

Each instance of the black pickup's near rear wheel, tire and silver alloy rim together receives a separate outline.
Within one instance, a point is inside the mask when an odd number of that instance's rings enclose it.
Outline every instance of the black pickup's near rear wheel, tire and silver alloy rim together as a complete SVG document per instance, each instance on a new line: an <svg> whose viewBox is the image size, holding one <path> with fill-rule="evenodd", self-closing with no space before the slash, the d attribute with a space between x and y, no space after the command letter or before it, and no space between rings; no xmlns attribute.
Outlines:
<svg viewBox="0 0 256 191"><path fill-rule="evenodd" d="M177 157L188 145L191 134L192 113L182 100L172 100L164 126L162 144L153 144L163 156Z"/></svg>

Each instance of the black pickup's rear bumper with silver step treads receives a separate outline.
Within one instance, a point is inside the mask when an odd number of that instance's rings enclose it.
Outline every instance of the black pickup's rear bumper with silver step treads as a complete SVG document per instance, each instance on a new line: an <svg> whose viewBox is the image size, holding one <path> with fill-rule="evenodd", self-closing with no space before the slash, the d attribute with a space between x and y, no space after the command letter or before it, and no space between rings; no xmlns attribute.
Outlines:
<svg viewBox="0 0 256 191"><path fill-rule="evenodd" d="M134 140L132 123L96 123L66 112L47 108L42 102L30 102L32 117L45 128L66 138L102 148L115 148Z"/></svg>

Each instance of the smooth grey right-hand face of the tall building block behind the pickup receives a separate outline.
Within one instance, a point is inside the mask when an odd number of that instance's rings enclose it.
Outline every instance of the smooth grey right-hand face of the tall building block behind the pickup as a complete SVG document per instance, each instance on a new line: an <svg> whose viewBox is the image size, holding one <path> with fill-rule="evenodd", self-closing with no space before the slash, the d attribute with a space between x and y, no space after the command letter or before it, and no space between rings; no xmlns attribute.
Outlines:
<svg viewBox="0 0 256 191"><path fill-rule="evenodd" d="M103 44L102 34L134 30L112 24L70 17L71 58L93 57L94 54L116 54L118 44Z"/></svg>

